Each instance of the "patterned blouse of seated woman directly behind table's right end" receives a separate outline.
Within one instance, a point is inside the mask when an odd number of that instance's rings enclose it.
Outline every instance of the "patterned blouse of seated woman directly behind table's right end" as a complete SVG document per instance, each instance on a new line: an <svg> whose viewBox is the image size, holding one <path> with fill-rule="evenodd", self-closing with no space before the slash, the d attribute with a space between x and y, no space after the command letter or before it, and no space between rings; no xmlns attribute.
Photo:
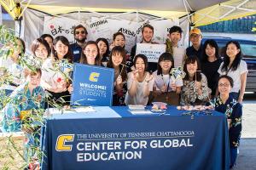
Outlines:
<svg viewBox="0 0 256 170"><path fill-rule="evenodd" d="M207 77L201 73L201 94L197 93L195 81L183 81L183 89L181 93L181 105L201 105L206 103L211 94L211 89L207 86ZM200 101L201 104L198 103Z"/></svg>

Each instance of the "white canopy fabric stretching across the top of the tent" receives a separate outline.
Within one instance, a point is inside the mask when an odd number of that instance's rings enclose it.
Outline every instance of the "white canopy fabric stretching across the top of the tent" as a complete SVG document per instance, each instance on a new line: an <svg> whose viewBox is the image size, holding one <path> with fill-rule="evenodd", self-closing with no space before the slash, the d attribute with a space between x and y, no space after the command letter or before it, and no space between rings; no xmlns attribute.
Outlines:
<svg viewBox="0 0 256 170"><path fill-rule="evenodd" d="M49 5L63 7L86 7L86 8L126 8L126 9L143 9L143 10L159 10L159 11L179 11L186 12L184 4L191 8L191 11L196 11L201 8L206 8L218 3L224 3L227 0L25 0L23 3L30 5Z"/></svg>

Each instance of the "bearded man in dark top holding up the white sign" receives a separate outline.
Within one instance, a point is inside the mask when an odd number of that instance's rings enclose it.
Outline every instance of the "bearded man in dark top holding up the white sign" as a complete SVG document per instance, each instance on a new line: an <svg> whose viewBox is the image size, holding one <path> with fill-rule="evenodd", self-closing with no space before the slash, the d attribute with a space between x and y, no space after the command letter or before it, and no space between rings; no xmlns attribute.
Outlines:
<svg viewBox="0 0 256 170"><path fill-rule="evenodd" d="M143 30L142 30L142 36L143 36L143 40L140 43L153 43L153 44L158 44L158 42L153 42L153 37L154 37L154 27L147 24L143 26ZM137 48L137 44L135 44L132 48L131 48L131 55L130 58L127 60L127 65L132 68L132 64L133 64L133 59L134 56L136 54L136 48ZM135 65L133 65L135 66ZM157 69L157 63L152 63L152 62L148 62L148 71L154 72Z"/></svg>

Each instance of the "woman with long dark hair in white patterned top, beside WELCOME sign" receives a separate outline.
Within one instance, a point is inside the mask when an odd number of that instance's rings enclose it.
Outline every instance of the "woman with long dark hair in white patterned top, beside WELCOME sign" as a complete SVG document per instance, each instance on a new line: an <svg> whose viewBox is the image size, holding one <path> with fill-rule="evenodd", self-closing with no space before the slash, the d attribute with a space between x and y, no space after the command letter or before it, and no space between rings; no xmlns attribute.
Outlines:
<svg viewBox="0 0 256 170"><path fill-rule="evenodd" d="M71 77L73 70L73 66L70 65L72 63L73 53L67 37L55 37L51 57L46 59L42 65L41 85L52 94L51 98L57 103L62 103L60 99L62 98L65 104L69 104L70 94L67 88L70 86L68 78Z"/></svg>

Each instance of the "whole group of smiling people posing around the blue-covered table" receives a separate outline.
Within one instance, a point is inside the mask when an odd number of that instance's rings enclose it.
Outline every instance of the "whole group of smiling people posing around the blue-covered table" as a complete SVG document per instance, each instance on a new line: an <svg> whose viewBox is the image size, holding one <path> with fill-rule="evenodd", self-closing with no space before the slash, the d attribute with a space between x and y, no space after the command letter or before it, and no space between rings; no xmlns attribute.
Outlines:
<svg viewBox="0 0 256 170"><path fill-rule="evenodd" d="M202 36L198 28L189 33L191 47L179 46L182 29L172 26L166 40L166 53L160 55L157 63L148 63L144 54L135 55L136 45L131 53L125 50L125 36L121 32L113 34L111 45L103 37L85 42L87 34L85 27L79 25L74 28L76 42L72 45L63 36L53 38L44 34L34 40L32 54L34 59L40 61L36 71L26 68L22 71L18 58L22 50L25 53L25 43L17 38L15 53L7 60L0 59L0 67L6 67L17 77L17 81L9 85L21 84L3 108L3 127L7 131L20 131L21 111L44 108L44 90L55 103L64 99L64 104L69 104L74 90L71 80L71 64L74 62L106 66L114 70L113 105L150 105L153 101L171 105L206 105L211 101L216 111L228 117L230 167L234 166L241 134L241 101L247 77L247 64L241 59L238 42L228 42L221 58L214 40L201 44ZM153 42L153 26L143 26L142 35L141 43L156 43ZM172 75L174 67L183 68L183 79Z"/></svg>

